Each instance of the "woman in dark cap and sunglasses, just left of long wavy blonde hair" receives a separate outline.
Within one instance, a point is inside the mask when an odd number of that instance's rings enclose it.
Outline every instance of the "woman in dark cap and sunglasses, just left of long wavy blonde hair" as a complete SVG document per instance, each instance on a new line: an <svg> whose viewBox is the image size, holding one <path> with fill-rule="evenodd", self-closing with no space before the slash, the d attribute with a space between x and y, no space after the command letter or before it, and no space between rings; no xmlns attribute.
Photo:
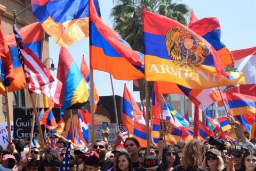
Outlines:
<svg viewBox="0 0 256 171"><path fill-rule="evenodd" d="M178 152L178 149L172 145L165 146L163 148L163 156L162 156L163 171L172 170L175 166L180 164L180 158L177 152Z"/></svg>

